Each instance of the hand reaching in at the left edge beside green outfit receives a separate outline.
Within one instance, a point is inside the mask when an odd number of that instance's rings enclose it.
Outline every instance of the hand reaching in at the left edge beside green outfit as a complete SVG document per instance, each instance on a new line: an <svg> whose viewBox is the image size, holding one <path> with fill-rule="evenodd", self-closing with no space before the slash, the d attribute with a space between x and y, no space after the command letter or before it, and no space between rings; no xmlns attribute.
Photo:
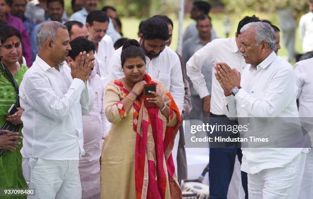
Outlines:
<svg viewBox="0 0 313 199"><path fill-rule="evenodd" d="M20 144L15 140L23 139L23 137L18 136L18 132L11 132L9 130L1 130L4 134L0 136L0 149L13 151Z"/></svg>

